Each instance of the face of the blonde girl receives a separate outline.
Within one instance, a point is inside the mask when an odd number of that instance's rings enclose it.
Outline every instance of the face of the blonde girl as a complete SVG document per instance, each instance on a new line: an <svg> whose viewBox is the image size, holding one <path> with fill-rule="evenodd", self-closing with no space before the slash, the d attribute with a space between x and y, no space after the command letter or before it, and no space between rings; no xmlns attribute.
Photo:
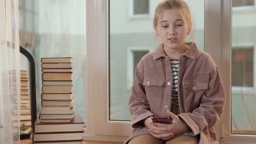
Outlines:
<svg viewBox="0 0 256 144"><path fill-rule="evenodd" d="M188 26L181 10L164 10L158 18L156 33L167 49L180 48L187 36Z"/></svg>

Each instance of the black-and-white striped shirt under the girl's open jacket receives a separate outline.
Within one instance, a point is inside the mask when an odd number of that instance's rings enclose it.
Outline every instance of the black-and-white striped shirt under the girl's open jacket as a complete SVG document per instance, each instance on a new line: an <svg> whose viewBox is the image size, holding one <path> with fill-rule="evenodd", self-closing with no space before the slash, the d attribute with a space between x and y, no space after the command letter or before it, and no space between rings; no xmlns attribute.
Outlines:
<svg viewBox="0 0 256 144"><path fill-rule="evenodd" d="M171 89L171 104L179 105L178 100L178 73L179 73L179 60L171 59L172 70L172 89Z"/></svg>

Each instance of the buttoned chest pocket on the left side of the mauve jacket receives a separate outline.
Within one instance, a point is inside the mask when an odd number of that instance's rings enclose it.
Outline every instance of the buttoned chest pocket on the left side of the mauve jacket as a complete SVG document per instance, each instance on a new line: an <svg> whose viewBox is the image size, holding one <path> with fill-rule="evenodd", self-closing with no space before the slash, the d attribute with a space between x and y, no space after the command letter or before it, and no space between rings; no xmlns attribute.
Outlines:
<svg viewBox="0 0 256 144"><path fill-rule="evenodd" d="M161 105L164 81L145 77L143 85L145 86L145 92L151 111L158 110Z"/></svg>

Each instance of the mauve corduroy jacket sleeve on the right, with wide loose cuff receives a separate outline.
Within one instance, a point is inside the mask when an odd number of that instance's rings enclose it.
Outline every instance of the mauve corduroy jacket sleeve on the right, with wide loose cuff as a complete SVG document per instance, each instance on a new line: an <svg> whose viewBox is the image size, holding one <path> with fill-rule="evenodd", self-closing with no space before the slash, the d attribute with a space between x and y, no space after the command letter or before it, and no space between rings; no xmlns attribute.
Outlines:
<svg viewBox="0 0 256 144"><path fill-rule="evenodd" d="M217 123L222 114L226 96L220 73L216 69L210 74L209 87L200 99L200 106L192 113L182 113L178 115L191 128L185 132L186 135L197 135L201 131L209 131Z"/></svg>

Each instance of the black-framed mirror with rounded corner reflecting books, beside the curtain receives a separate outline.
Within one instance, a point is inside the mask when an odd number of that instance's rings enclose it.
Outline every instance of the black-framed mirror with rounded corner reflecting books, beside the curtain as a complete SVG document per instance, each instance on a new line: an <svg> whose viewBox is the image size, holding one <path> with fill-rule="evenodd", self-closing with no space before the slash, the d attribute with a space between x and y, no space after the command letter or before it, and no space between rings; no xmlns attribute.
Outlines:
<svg viewBox="0 0 256 144"><path fill-rule="evenodd" d="M31 119L30 119L31 125L30 125L29 119L24 118L23 120L21 119L20 121L20 124L25 124L29 130L28 133L20 134L20 139L22 140L22 139L30 138L30 134L31 132L33 132L33 124L36 121L36 76L35 76L35 61L33 59L33 56L30 54L30 52L28 52L26 49L24 49L21 46L20 46L20 53L21 53L20 55L21 103L30 104L30 115L31 115ZM30 101L25 101L26 96L28 96L28 99ZM21 115L29 115L24 111L22 111L22 108L21 108Z"/></svg>

